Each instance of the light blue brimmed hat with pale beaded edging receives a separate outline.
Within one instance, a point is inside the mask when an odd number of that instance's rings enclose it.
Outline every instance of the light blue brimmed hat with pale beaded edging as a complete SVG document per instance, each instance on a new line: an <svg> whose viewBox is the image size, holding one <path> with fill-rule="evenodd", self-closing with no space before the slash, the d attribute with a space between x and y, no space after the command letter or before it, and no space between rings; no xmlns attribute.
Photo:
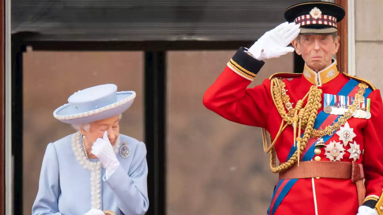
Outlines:
<svg viewBox="0 0 383 215"><path fill-rule="evenodd" d="M132 105L134 98L134 91L117 92L114 84L93 86L69 96L69 103L57 108L53 116L70 124L94 122L121 114Z"/></svg>

